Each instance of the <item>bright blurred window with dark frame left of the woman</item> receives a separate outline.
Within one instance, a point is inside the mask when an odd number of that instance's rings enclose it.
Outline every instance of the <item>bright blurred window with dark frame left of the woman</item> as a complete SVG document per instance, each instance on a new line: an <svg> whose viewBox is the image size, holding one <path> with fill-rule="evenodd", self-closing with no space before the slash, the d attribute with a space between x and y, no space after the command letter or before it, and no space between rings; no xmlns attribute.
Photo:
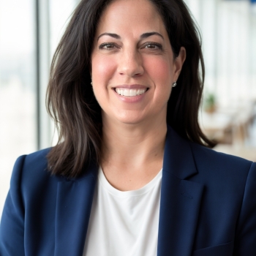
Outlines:
<svg viewBox="0 0 256 256"><path fill-rule="evenodd" d="M0 0L0 218L15 159L56 141L45 91L53 52L76 4Z"/></svg>

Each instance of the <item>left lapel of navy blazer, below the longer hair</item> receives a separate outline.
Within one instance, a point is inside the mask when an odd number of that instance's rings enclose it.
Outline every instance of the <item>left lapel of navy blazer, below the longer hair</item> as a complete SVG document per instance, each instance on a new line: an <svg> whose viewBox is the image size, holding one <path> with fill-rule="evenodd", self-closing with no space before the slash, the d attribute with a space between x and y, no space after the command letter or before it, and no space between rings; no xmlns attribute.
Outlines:
<svg viewBox="0 0 256 256"><path fill-rule="evenodd" d="M91 165L85 176L59 182L55 256L83 255L96 181L97 166Z"/></svg>

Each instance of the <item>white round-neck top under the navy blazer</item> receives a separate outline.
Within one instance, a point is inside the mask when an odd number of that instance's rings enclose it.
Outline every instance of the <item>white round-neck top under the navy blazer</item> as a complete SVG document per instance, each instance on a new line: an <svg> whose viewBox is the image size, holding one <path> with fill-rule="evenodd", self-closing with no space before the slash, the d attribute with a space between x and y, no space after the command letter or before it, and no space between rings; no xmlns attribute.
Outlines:
<svg viewBox="0 0 256 256"><path fill-rule="evenodd" d="M119 191L99 168L83 256L156 256L161 184Z"/></svg>

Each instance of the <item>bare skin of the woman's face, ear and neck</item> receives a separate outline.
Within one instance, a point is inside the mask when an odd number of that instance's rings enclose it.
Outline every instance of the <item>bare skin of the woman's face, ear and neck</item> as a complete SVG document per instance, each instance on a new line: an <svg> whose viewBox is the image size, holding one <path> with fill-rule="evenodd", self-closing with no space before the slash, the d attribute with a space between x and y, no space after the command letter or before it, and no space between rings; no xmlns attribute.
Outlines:
<svg viewBox="0 0 256 256"><path fill-rule="evenodd" d="M102 170L113 187L139 189L162 168L167 101L186 50L174 58L161 16L148 0L116 0L102 13L91 54L102 108ZM124 97L118 88L143 88Z"/></svg>

